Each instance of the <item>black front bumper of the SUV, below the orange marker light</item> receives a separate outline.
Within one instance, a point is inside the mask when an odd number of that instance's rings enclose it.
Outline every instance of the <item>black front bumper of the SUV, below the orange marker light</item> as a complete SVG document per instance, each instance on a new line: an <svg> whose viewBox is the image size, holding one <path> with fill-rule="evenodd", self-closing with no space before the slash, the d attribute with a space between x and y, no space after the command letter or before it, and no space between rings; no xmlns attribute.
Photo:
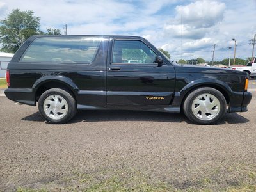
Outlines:
<svg viewBox="0 0 256 192"><path fill-rule="evenodd" d="M248 111L248 104L252 100L252 93L250 92L234 92L230 99L228 106L228 113L246 112Z"/></svg>

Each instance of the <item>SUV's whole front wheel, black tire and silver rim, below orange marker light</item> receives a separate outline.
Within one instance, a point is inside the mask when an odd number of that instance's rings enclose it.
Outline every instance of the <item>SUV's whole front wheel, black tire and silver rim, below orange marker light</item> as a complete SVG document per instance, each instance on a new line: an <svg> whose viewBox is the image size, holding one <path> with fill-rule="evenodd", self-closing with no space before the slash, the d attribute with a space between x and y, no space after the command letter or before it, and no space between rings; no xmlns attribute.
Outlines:
<svg viewBox="0 0 256 192"><path fill-rule="evenodd" d="M202 87L189 93L183 104L184 114L195 124L214 124L226 112L226 99L214 88Z"/></svg>

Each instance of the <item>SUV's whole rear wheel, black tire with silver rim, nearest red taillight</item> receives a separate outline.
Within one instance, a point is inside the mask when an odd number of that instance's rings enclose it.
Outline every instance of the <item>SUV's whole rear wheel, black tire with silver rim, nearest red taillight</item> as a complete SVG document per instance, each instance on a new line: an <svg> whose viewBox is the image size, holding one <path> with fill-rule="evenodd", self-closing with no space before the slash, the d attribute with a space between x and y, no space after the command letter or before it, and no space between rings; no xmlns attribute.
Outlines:
<svg viewBox="0 0 256 192"><path fill-rule="evenodd" d="M48 122L64 124L76 115L77 105L67 90L52 88L40 96L38 109Z"/></svg>

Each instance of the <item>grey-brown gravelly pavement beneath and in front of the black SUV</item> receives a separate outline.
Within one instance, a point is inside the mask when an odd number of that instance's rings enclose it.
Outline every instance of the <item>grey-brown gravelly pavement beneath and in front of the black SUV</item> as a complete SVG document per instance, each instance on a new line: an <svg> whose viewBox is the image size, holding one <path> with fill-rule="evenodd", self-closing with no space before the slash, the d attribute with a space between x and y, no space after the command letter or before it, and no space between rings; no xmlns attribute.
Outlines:
<svg viewBox="0 0 256 192"><path fill-rule="evenodd" d="M207 126L143 111L79 111L69 124L51 125L37 108L0 97L0 191L255 185L255 96L247 113Z"/></svg>

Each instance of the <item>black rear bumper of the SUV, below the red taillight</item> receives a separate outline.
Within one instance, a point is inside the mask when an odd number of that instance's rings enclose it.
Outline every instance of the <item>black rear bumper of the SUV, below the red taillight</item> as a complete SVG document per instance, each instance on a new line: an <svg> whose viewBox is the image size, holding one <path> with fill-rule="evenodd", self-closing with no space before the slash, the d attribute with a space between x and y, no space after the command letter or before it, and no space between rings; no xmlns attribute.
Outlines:
<svg viewBox="0 0 256 192"><path fill-rule="evenodd" d="M32 89L8 88L4 90L4 94L8 99L13 100L14 102L36 106L35 94Z"/></svg>

